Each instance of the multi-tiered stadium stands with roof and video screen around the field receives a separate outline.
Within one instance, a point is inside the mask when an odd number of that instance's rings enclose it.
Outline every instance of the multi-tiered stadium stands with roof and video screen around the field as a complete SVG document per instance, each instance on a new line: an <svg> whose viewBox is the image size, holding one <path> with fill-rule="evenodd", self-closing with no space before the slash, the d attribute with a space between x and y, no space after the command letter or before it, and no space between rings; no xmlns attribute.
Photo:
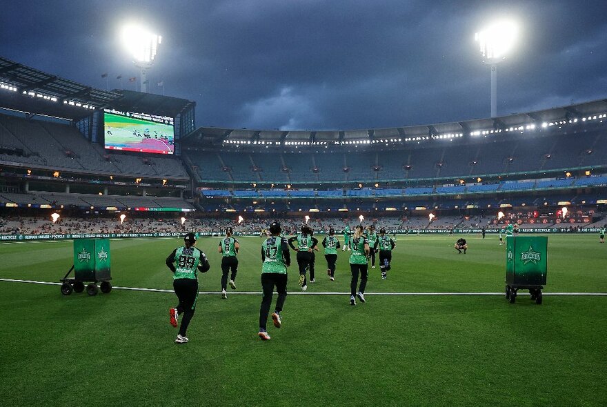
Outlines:
<svg viewBox="0 0 607 407"><path fill-rule="evenodd" d="M607 203L606 100L384 129L197 128L193 101L94 89L0 58L0 108L7 215L433 212L571 227L600 222Z"/></svg>

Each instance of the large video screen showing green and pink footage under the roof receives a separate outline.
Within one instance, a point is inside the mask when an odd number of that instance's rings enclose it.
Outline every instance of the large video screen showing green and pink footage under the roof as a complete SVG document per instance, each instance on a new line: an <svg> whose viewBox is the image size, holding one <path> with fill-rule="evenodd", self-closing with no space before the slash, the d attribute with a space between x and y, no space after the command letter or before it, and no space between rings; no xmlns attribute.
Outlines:
<svg viewBox="0 0 607 407"><path fill-rule="evenodd" d="M175 152L175 128L172 117L146 115L144 113L119 112L106 109L105 146L108 150Z"/></svg>

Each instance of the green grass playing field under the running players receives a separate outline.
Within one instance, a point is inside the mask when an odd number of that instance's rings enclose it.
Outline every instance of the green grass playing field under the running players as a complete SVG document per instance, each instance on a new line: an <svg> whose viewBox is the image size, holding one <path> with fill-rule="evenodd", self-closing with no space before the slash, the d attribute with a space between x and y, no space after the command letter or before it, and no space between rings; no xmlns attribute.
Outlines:
<svg viewBox="0 0 607 407"><path fill-rule="evenodd" d="M373 295L502 292L497 237L398 237L387 280L370 269L366 304L348 303L347 252L336 281L317 254L317 282L290 295L283 327L257 337L259 238L241 238L238 290L219 296L219 239L188 337L175 345L170 292L68 297L59 286L0 281L3 406L605 406L607 297ZM178 239L111 241L114 286L170 290L164 259ZM0 244L0 278L59 281L69 241ZM295 262L295 261L294 261ZM289 292L300 294L297 268ZM343 295L313 295L344 292ZM607 292L607 244L548 237L550 292Z"/></svg>

